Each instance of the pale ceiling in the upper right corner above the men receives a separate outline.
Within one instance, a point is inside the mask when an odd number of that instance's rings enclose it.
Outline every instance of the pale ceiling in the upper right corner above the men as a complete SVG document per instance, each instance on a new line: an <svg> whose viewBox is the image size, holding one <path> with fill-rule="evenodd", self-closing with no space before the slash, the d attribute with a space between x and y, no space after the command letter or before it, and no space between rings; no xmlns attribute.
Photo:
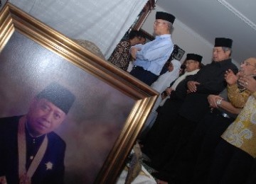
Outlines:
<svg viewBox="0 0 256 184"><path fill-rule="evenodd" d="M255 0L158 0L156 4L212 44L216 37L233 39L235 61L256 57Z"/></svg>

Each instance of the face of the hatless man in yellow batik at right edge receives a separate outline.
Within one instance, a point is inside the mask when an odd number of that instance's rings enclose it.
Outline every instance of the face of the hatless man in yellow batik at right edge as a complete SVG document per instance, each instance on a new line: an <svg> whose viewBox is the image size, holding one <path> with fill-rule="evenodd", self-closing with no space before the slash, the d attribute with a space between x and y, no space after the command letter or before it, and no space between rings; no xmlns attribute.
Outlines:
<svg viewBox="0 0 256 184"><path fill-rule="evenodd" d="M256 74L256 59L255 58L249 58L246 59L244 62L241 63L240 65L240 76L250 76L250 75L255 75Z"/></svg>

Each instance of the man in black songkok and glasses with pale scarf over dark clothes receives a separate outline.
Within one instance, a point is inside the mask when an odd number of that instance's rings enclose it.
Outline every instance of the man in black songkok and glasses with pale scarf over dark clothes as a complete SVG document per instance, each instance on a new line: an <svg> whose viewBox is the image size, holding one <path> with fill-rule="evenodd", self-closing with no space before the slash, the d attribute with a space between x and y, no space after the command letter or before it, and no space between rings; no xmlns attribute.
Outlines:
<svg viewBox="0 0 256 184"><path fill-rule="evenodd" d="M159 114L156 117L156 122L154 122L153 127L151 127L151 130L149 130L142 141L142 144L144 144L143 153L149 156L153 162L156 160L155 156L157 157L159 154L159 149L165 144L162 140L168 137L169 132L171 132L174 126L174 122L170 120L178 114L178 109L181 107L186 96L186 79L195 75L201 69L202 58L198 54L187 54L185 74L178 77L171 87L166 88L165 92L169 99L158 110Z"/></svg>

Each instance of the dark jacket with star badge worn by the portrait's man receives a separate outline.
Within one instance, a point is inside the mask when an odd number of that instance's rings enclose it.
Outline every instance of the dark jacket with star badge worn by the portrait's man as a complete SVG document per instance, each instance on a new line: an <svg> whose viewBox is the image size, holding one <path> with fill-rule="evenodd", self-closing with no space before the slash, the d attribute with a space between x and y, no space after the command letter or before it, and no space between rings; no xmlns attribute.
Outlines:
<svg viewBox="0 0 256 184"><path fill-rule="evenodd" d="M0 176L8 184L18 183L18 120L21 116L0 118ZM26 130L26 169L43 142ZM47 134L48 146L43 159L31 178L31 183L63 183L65 142L54 132Z"/></svg>

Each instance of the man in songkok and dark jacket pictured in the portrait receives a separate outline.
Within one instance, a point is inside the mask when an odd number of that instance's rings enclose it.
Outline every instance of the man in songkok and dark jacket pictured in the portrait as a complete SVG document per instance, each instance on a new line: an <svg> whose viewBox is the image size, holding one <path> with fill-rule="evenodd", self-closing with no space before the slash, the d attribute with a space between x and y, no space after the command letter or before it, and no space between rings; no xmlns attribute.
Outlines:
<svg viewBox="0 0 256 184"><path fill-rule="evenodd" d="M0 118L0 183L63 183L65 142L53 130L74 100L53 83L38 93L26 115Z"/></svg>

